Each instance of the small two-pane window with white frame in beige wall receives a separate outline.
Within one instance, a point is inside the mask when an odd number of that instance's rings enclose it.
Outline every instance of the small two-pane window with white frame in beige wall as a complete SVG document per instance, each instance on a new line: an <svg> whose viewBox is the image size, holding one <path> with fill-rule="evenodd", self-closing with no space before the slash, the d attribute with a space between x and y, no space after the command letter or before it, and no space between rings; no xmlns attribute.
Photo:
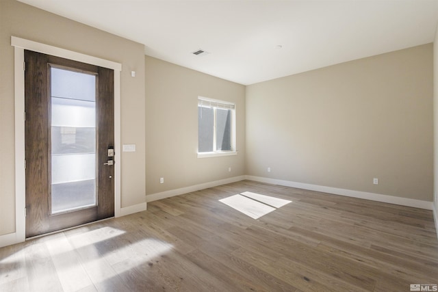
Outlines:
<svg viewBox="0 0 438 292"><path fill-rule="evenodd" d="M235 154L234 103L198 98L198 157Z"/></svg>

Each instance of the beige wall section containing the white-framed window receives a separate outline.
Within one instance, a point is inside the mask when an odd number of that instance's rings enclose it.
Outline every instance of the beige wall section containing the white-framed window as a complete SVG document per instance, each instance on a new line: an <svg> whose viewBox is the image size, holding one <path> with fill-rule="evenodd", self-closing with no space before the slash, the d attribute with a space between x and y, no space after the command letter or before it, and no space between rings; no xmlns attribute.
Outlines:
<svg viewBox="0 0 438 292"><path fill-rule="evenodd" d="M244 85L153 57L145 63L146 194L244 175ZM198 96L235 103L236 156L197 158Z"/></svg>

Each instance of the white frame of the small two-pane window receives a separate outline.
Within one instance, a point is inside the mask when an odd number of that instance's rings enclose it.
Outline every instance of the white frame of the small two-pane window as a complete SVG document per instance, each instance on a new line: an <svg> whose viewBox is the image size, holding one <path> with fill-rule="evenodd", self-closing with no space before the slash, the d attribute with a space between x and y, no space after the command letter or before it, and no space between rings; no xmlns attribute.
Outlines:
<svg viewBox="0 0 438 292"><path fill-rule="evenodd" d="M230 103L229 101L219 101L218 99L213 98L207 98L203 96L198 96L198 107L200 106L200 103L205 102L205 105L208 105L208 107L213 107L214 110L214 133L213 133L213 148L214 150L211 152L199 152L198 148L198 158L205 158L205 157L218 157L218 156L231 156L231 155L237 155L236 150L236 144L235 144L235 103ZM222 107L214 106L222 105ZM216 150L216 109L217 108L226 108L227 105L229 105L231 109L231 150ZM202 105L201 105L202 106ZM199 129L199 128L198 128ZM199 131L199 130L198 130ZM199 145L199 141L198 141Z"/></svg>

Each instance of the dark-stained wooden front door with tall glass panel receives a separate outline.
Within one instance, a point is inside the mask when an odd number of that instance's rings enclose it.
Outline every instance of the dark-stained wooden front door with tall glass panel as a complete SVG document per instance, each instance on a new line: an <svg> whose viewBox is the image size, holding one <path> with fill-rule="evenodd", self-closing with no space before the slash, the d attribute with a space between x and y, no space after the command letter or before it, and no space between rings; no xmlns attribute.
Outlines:
<svg viewBox="0 0 438 292"><path fill-rule="evenodd" d="M114 72L25 51L26 237L114 216Z"/></svg>

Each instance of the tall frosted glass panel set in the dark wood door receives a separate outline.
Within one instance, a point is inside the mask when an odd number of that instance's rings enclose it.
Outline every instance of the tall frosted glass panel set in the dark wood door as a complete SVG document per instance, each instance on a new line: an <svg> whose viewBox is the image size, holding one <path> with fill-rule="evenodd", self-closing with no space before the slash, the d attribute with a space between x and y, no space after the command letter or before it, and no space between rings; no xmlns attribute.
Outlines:
<svg viewBox="0 0 438 292"><path fill-rule="evenodd" d="M51 214L96 206L96 75L51 67Z"/></svg>

